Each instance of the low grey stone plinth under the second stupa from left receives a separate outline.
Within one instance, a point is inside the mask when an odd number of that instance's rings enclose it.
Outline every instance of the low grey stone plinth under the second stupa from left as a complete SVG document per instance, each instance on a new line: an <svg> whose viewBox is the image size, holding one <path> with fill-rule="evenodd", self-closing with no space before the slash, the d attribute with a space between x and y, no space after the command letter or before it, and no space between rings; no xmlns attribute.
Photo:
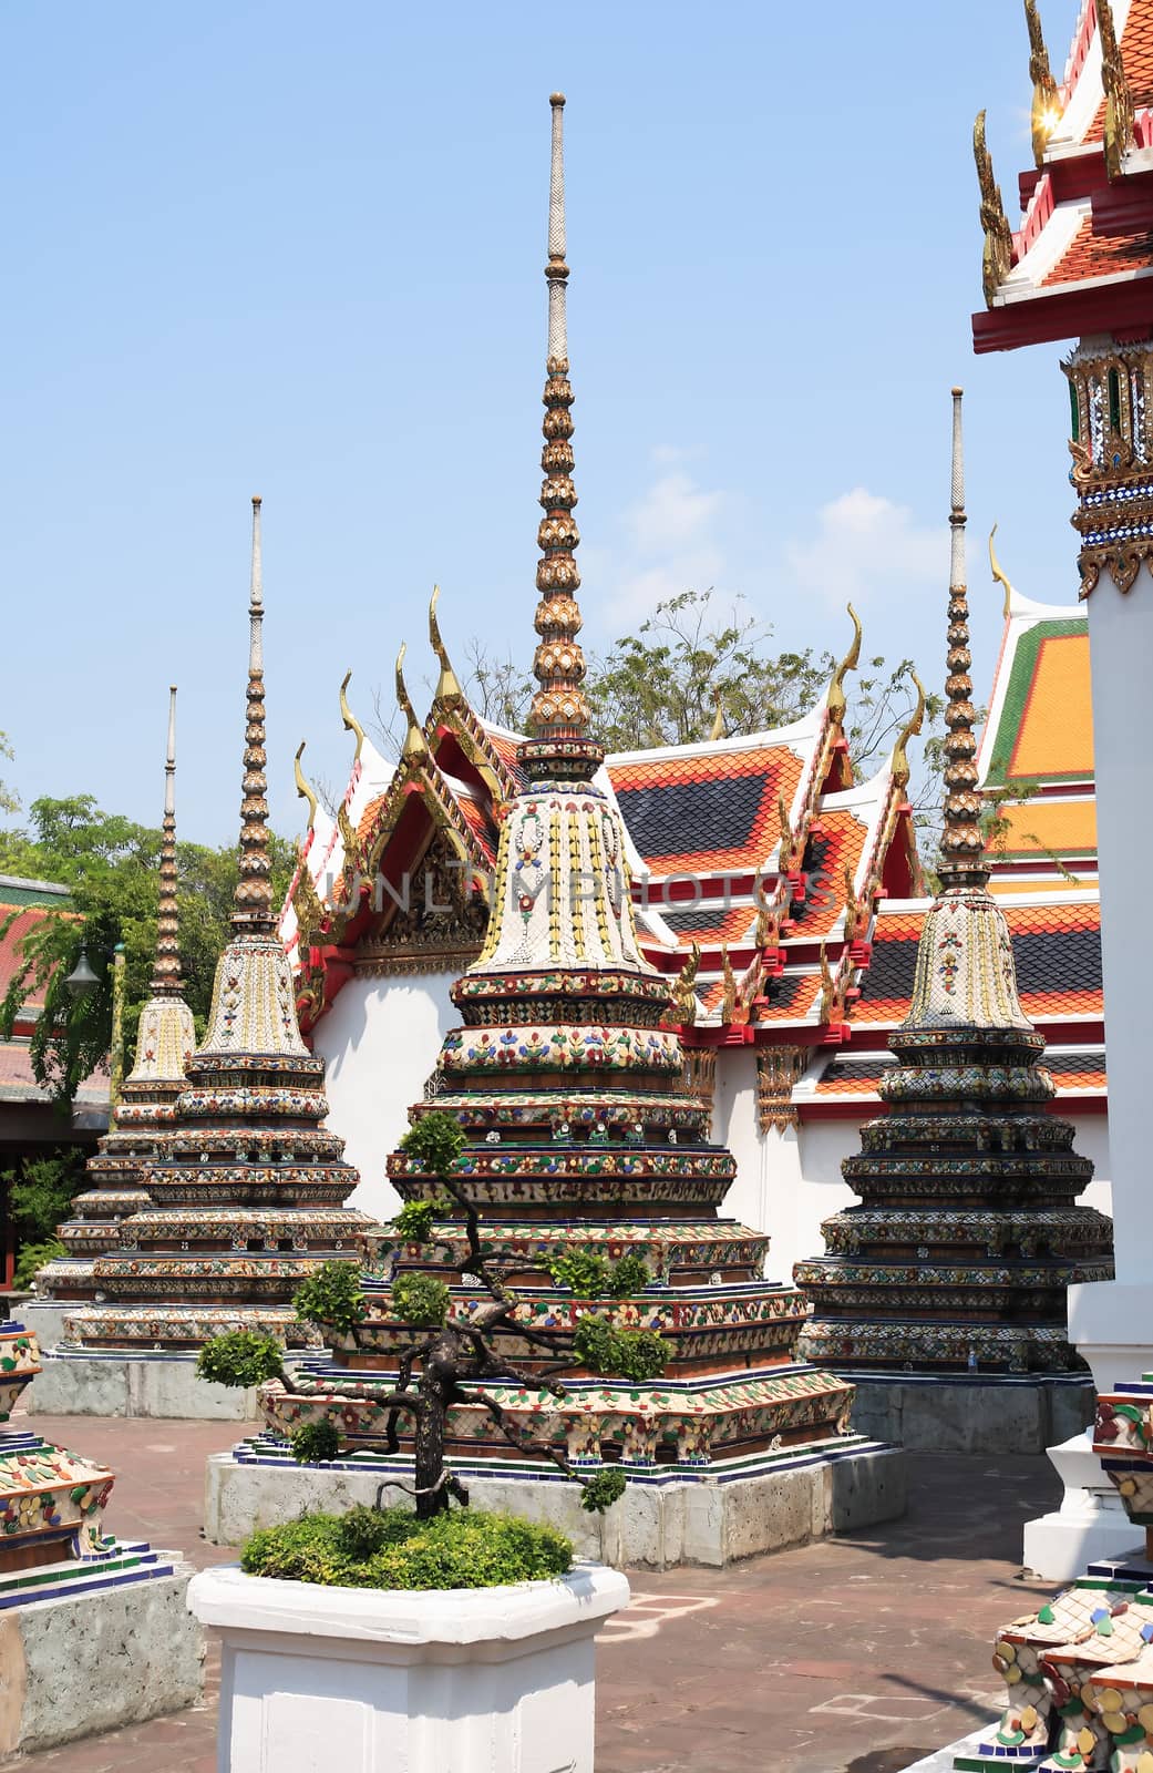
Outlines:
<svg viewBox="0 0 1153 1773"><path fill-rule="evenodd" d="M25 1404L32 1415L48 1417L260 1418L255 1386L198 1379L195 1355L48 1355Z"/></svg>

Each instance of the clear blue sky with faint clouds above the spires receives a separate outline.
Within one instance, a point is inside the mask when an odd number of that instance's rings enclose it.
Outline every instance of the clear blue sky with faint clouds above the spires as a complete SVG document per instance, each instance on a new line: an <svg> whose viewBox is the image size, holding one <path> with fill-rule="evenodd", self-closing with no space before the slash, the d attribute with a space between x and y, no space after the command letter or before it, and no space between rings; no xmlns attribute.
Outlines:
<svg viewBox="0 0 1153 1773"><path fill-rule="evenodd" d="M1077 12L1047 0L1057 76ZM1013 0L0 9L4 775L232 837L248 498L264 496L273 817L344 780L400 640L531 651L561 87L590 645L714 585L781 645L942 679L949 395L967 390L974 679L1001 594L1075 601L1057 348L974 360L969 135L1015 218Z"/></svg>

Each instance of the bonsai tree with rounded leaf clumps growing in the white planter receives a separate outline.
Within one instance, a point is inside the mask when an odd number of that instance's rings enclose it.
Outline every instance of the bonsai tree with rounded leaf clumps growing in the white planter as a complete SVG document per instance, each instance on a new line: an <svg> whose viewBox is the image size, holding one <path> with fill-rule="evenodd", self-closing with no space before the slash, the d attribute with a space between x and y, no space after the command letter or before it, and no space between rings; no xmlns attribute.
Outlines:
<svg viewBox="0 0 1153 1773"><path fill-rule="evenodd" d="M623 1493L623 1473L615 1468L593 1473L581 1472L560 1447L549 1441L521 1440L499 1399L487 1386L512 1383L546 1390L553 1397L563 1399L567 1395L565 1385L556 1378L524 1372L501 1351L499 1344L515 1339L542 1347L554 1358L579 1362L600 1376L620 1376L643 1383L655 1379L664 1371L664 1340L655 1330L622 1330L597 1310L586 1312L572 1330L540 1330L524 1323L519 1317L521 1300L505 1285L498 1262L485 1250L476 1209L455 1177L462 1147L460 1128L448 1113L441 1112L423 1115L406 1135L400 1149L436 1183L437 1195L409 1200L391 1229L397 1243L443 1250L457 1273L476 1280L489 1298L471 1317L457 1316L443 1280L422 1271L397 1273L399 1257L393 1257L391 1305L397 1317L414 1332L414 1337L400 1349L393 1388L377 1399L388 1410L386 1447L390 1452L400 1450L400 1422L404 1418L413 1433L416 1466L413 1495L420 1519L445 1512L453 1498L460 1505L468 1505L468 1488L445 1461L445 1436L450 1410L462 1404L480 1406L519 1454L549 1459L565 1477L581 1486L584 1509L604 1512ZM457 1243L436 1236L436 1222L450 1215L459 1216L464 1225L464 1254ZM618 1262L607 1262L581 1248L558 1252L549 1271L558 1285L567 1285L584 1298L620 1298L648 1282L648 1268L639 1257L625 1255ZM358 1271L347 1262L324 1262L298 1289L296 1312L305 1323L349 1333L367 1316ZM202 1351L198 1371L211 1378L223 1378L221 1363L211 1351L213 1344L209 1342ZM237 1358L234 1351L232 1360ZM246 1371L251 1371L248 1363L244 1365ZM292 1436L292 1452L301 1463L331 1459L338 1450L340 1434L328 1422L306 1424ZM390 1488L388 1482L381 1486L377 1504L386 1488Z"/></svg>

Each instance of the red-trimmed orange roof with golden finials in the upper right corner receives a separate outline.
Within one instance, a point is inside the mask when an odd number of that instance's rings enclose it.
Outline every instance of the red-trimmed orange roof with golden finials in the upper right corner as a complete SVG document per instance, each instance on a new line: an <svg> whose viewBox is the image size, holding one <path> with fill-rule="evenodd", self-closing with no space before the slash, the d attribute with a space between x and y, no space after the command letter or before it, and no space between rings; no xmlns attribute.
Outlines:
<svg viewBox="0 0 1153 1773"><path fill-rule="evenodd" d="M1110 332L1130 314L1135 324L1148 323L1153 0L1112 0L1109 18L1116 59L1102 51L1102 5L1084 0L1045 121L1040 165L1020 177L1022 222L1011 234L1004 211L997 223L1001 199L999 191L994 199L988 167L983 220L987 241L992 227L994 259L988 312L976 314L972 324L978 351ZM1119 128L1107 128L1109 98ZM1100 291L1109 291L1107 307Z"/></svg>

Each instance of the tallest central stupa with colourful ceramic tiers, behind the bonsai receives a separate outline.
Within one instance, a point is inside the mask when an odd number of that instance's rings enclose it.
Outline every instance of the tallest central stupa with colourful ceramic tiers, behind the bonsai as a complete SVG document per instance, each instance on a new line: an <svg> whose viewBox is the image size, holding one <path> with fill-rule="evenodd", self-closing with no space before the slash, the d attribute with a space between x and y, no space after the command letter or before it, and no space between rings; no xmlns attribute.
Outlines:
<svg viewBox="0 0 1153 1773"><path fill-rule="evenodd" d="M623 824L590 734L574 560L563 103L560 94L551 99L531 736L517 750L522 785L503 808L484 949L453 986L462 1025L448 1032L411 1121L439 1112L462 1128L466 1149L453 1179L480 1215L485 1250L517 1289L521 1323L567 1328L592 1310L618 1326L657 1330L669 1347L661 1378L631 1381L510 1339L508 1356L528 1374L563 1372L560 1399L537 1383L487 1383L512 1436L549 1441L593 1466L618 1459L641 1482L705 1479L719 1516L719 1479L772 1484L781 1464L816 1470L822 1456L834 1461L866 1443L848 1434L852 1386L795 1358L804 1300L763 1278L769 1239L719 1216L735 1163L708 1142L708 1108L684 1082L677 979L641 954ZM388 1174L407 1202L439 1197L437 1183L404 1152L390 1158ZM436 1238L464 1257L460 1216L446 1215ZM613 1261L639 1255L648 1282L627 1298L574 1294L549 1269L572 1248ZM400 1269L437 1271L439 1261L439 1252L430 1257L420 1245L399 1250ZM452 1285L459 1316L485 1300L468 1271ZM310 1362L287 1386L273 1381L262 1390L269 1427L289 1434L329 1420L352 1461L384 1457L383 1399L413 1333L393 1312L386 1285L367 1287L367 1312L363 1324L337 1339L331 1362ZM491 1470L503 1461L507 1475L540 1477L533 1461L510 1470L507 1438L475 1404L452 1411L450 1441L460 1454L491 1461ZM275 1450L266 1443L232 1456L244 1457L259 1463ZM770 1530L772 1511L760 1514L746 1551L769 1543L756 1532ZM806 1525L801 1535L820 1530ZM719 1560L726 1555L731 1546Z"/></svg>

